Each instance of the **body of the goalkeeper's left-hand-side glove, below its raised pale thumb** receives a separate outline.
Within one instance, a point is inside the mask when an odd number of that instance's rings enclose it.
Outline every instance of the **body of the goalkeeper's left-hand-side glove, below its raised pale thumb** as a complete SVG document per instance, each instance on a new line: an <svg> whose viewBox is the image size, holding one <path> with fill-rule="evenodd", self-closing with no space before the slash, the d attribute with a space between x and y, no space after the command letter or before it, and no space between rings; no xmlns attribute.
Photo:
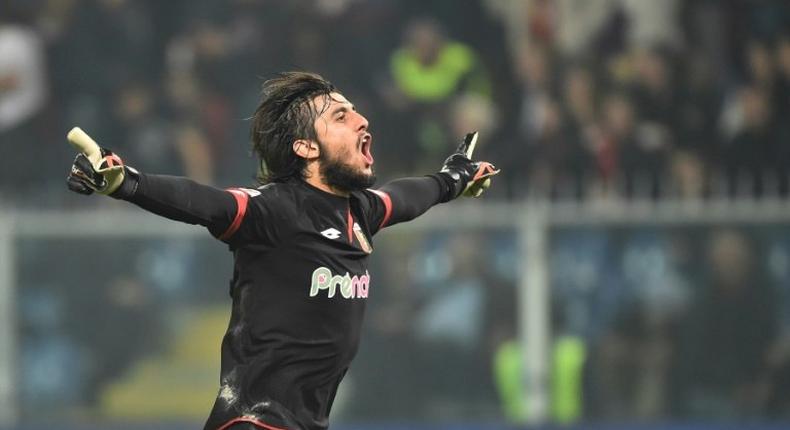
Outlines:
<svg viewBox="0 0 790 430"><path fill-rule="evenodd" d="M67 178L71 191L90 195L95 193L114 198L125 198L137 188L137 171L123 165L123 160L112 151L100 148L101 158L92 161L83 153L77 154Z"/></svg>

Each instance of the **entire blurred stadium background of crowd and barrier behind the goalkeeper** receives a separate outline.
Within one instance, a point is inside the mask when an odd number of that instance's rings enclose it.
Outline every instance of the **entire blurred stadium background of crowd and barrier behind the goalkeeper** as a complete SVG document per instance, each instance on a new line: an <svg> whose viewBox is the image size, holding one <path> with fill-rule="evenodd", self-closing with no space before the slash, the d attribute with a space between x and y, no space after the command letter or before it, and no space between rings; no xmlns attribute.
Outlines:
<svg viewBox="0 0 790 430"><path fill-rule="evenodd" d="M202 426L231 256L69 193L65 134L249 186L295 69L368 117L380 182L470 130L503 169L376 237L333 428L790 425L787 1L4 0L0 428Z"/></svg>

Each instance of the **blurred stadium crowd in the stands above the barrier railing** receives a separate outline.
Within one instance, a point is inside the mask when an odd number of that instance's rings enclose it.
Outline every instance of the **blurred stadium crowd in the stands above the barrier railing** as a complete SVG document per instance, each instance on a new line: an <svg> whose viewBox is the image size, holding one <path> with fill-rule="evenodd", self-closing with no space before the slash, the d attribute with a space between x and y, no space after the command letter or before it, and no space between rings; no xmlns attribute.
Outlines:
<svg viewBox="0 0 790 430"><path fill-rule="evenodd" d="M385 179L432 171L480 129L500 199L788 191L781 1L7 4L5 202L69 205L75 124L140 169L248 184L245 118L261 79L290 69L324 74L370 117Z"/></svg>

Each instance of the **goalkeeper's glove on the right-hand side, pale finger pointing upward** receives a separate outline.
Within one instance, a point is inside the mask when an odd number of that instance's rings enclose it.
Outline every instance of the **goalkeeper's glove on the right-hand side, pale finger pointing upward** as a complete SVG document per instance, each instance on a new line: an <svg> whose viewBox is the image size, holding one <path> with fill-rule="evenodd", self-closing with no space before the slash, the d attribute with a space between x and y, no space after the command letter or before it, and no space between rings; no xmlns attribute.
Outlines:
<svg viewBox="0 0 790 430"><path fill-rule="evenodd" d="M450 179L452 193L448 200L461 195L480 197L491 186L491 177L500 172L487 161L472 161L469 158L474 150L470 145L476 140L476 135L477 133L467 134L458 149L445 160L439 172Z"/></svg>

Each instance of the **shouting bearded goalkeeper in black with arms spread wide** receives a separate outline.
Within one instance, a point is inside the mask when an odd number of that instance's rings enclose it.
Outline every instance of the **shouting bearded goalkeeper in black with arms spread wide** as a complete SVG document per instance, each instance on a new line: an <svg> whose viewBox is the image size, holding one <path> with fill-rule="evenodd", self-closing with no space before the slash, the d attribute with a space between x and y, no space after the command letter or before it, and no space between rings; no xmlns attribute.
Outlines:
<svg viewBox="0 0 790 430"><path fill-rule="evenodd" d="M68 186L203 225L233 252L233 308L205 429L325 429L376 288L372 237L435 204L478 196L499 171L470 160L470 134L440 172L370 188L368 121L310 73L264 83L251 136L264 185L222 190L138 172L75 129L69 140L81 153Z"/></svg>

